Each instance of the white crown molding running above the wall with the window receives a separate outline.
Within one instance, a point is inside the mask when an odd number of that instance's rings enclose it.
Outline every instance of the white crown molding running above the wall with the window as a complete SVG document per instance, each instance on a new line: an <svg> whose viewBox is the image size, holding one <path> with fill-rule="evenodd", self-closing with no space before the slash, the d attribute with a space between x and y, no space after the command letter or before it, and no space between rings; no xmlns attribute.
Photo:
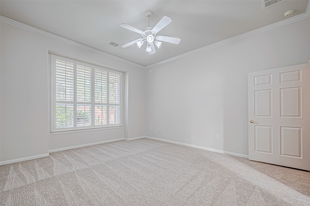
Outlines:
<svg viewBox="0 0 310 206"><path fill-rule="evenodd" d="M58 36L58 35L56 35L56 34L52 34L52 33L49 33L49 32L46 32L46 31L43 31L43 30L40 30L40 29L31 27L31 26L29 26L29 25L27 25L27 24L20 23L20 22L18 22L18 21L12 20L12 19L7 18L7 17L4 17L4 16L0 16L0 21L3 22L3 23L10 24L10 25L12 25L12 26L16 26L16 27L18 27L18 28L21 28L21 29L30 31L30 32L34 32L34 33L37 33L37 34L46 36L46 37L51 38L51 39L55 39L55 40L61 41L61 42L63 42L63 43L72 45L72 46L74 46L74 47L78 47L78 48L85 49L85 50L87 50L87 51L91 51L91 52L93 52L93 53L96 53L96 54L99 54L99 55L108 57L108 58L110 58L110 59L113 59L113 60L116 60L116 61L119 61L119 62L122 62L122 63L130 64L130 65L135 66L135 67L138 67L138 68L144 68L144 66L142 66L142 65L140 65L140 64L138 64L138 63L130 62L130 61L128 61L128 60L125 60L125 59L122 59L122 58L120 58L120 57L117 57L117 56L108 54L108 53L106 53L106 52L104 52L104 51L101 51L101 50L98 50L98 49L96 49L96 48L92 48L92 47L89 47L89 46L80 44L80 43L78 43L78 42L75 42L75 41L72 41L72 40L63 38L63 37Z"/></svg>

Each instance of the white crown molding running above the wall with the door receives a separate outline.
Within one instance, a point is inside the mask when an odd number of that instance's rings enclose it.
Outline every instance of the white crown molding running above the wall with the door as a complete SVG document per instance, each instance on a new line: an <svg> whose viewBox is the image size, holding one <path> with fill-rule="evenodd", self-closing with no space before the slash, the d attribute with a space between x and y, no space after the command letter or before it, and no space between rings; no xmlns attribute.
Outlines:
<svg viewBox="0 0 310 206"><path fill-rule="evenodd" d="M276 28L285 26L287 24L291 24L291 23L294 23L296 21L300 21L300 20L303 20L303 19L309 18L309 17L310 17L310 0L308 1L306 12L301 14L301 15L293 16L291 18L284 19L284 20L276 22L274 24L270 24L268 26L265 26L265 27L262 27L262 28L259 28L259 29L256 29L256 30L253 30L253 31L250 31L250 32L246 32L246 33L234 36L232 38L225 39L223 41L220 41L220 42L217 42L217 43L214 43L214 44L202 47L202 48L198 48L198 49L186 52L184 54L180 54L178 56L175 56L175 57L163 60L161 62L157 62L157 63L153 63L153 64L148 65L148 66L144 66L144 68L155 67L155 66L158 66L158 65L161 65L161 64L164 64L164 63L172 62L172 61L177 60L177 59L182 59L182 58L185 58L187 56L190 56L190 55L193 55L193 54L197 54L197 53L200 53L202 51L205 51L205 50L208 50L208 49L211 49L211 48L216 48L216 47L219 47L219 46L222 46L222 45L234 42L234 41L238 41L240 39L247 38L249 36L253 36L253 35L256 35L256 34L259 34L259 33L267 32L269 30L273 30L273 29L276 29Z"/></svg>

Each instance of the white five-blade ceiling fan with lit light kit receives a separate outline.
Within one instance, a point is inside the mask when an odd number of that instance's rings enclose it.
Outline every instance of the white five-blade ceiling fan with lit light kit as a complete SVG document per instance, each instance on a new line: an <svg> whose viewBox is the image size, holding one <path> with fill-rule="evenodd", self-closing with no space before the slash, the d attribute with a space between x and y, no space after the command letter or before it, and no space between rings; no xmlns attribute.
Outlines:
<svg viewBox="0 0 310 206"><path fill-rule="evenodd" d="M128 24L121 24L120 26L131 30L133 32L137 32L140 33L142 35L142 38L137 39L135 41L132 41L128 44L125 44L124 46L122 46L122 48L127 48L131 45L137 44L137 46L139 48L141 48L141 46L144 44L144 42L147 42L147 47L145 49L145 51L149 52L150 54L154 54L155 51L155 46L157 48L160 47L162 42L168 42L168 43L172 43L172 44L179 44L181 39L179 38L174 38L174 37L170 37L170 36L157 36L157 33L162 30L163 28L165 28L168 24L170 24L172 22L171 18L168 16L164 16L156 25L155 27L150 27L150 16L153 13L151 11L147 11L145 12L145 15L147 17L149 17L149 27L146 27L143 29L143 31L132 27Z"/></svg>

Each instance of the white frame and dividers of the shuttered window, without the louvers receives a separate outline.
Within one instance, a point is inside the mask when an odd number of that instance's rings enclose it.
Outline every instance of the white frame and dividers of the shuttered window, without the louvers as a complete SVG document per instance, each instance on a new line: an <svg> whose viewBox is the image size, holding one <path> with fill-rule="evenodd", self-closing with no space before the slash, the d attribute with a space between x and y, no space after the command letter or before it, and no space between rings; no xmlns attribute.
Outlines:
<svg viewBox="0 0 310 206"><path fill-rule="evenodd" d="M56 60L73 63L74 70L74 99L73 101L61 101L56 99ZM77 101L77 65L90 67L91 68L91 102L82 102ZM98 103L95 101L95 71L101 70L107 72L107 103ZM110 103L109 102L109 77L110 73L119 75L119 103ZM123 125L123 76L124 73L115 71L112 69L104 68L101 66L93 65L90 63L83 63L77 60L57 56L51 54L51 133L52 134L63 134L63 133L74 133L74 132L84 132L84 131L93 131L93 130L102 130L102 129L113 129L113 128L122 128ZM56 128L56 104L57 103L66 103L73 104L73 127L62 127ZM77 125L77 106L78 104L89 104L91 105L91 125L90 126L78 126ZM95 125L95 106L97 105L106 105L107 106L107 125ZM109 107L110 106L119 106L119 124L109 124Z"/></svg>

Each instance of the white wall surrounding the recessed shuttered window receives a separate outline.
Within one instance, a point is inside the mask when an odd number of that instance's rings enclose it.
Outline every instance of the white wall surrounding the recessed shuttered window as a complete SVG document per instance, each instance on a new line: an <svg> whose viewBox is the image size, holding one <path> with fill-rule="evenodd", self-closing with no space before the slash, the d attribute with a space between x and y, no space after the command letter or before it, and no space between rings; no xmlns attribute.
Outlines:
<svg viewBox="0 0 310 206"><path fill-rule="evenodd" d="M44 35L1 22L0 161L47 154L80 144L145 134L145 73L120 62ZM125 73L127 121L121 129L52 135L49 129L48 53L65 55Z"/></svg>

